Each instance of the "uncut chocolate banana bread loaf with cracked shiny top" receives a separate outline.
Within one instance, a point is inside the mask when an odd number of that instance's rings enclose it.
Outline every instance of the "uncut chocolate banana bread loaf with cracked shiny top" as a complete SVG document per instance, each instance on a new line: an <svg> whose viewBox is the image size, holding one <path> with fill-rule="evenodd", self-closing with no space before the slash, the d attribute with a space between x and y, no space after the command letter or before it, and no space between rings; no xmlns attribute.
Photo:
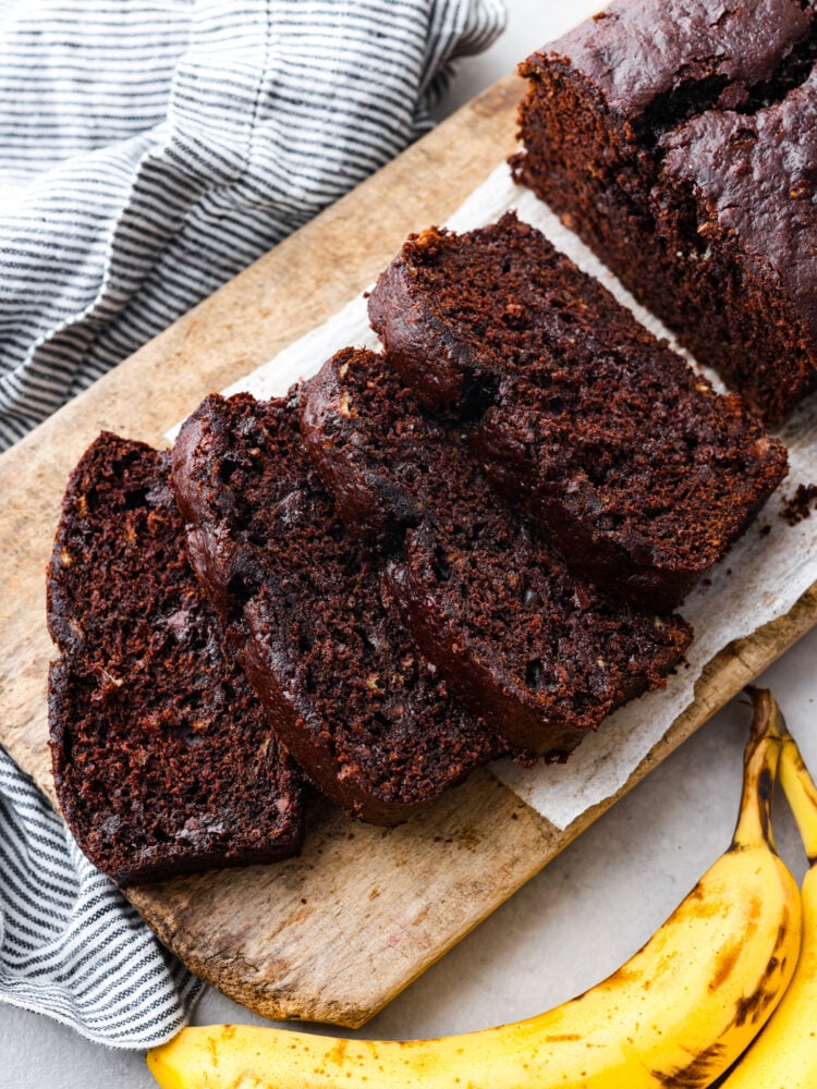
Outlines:
<svg viewBox="0 0 817 1089"><path fill-rule="evenodd" d="M615 0L522 65L516 176L768 423L817 384L817 14Z"/></svg>

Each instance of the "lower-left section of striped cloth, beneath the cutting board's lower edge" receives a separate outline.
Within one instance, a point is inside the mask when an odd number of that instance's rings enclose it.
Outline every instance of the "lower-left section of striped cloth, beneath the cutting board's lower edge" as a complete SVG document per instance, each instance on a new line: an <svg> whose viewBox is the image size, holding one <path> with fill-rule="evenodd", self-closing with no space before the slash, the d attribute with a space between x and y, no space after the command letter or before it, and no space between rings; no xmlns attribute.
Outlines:
<svg viewBox="0 0 817 1089"><path fill-rule="evenodd" d="M100 1043L170 1039L203 984L80 853L2 749L0 830L0 995Z"/></svg>

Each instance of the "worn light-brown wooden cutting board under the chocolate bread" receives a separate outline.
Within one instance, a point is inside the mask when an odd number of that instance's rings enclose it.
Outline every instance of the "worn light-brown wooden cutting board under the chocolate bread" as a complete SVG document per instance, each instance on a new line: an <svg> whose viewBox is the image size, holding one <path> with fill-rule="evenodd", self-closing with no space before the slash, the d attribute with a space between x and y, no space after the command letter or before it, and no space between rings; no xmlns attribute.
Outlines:
<svg viewBox="0 0 817 1089"><path fill-rule="evenodd" d="M515 76L496 84L0 457L0 742L52 802L44 573L71 468L103 428L164 444L205 394L340 309L510 154L521 94ZM815 622L817 585L720 653L620 794ZM402 828L318 804L296 859L129 896L193 971L251 1010L357 1027L614 800L559 831L484 770Z"/></svg>

